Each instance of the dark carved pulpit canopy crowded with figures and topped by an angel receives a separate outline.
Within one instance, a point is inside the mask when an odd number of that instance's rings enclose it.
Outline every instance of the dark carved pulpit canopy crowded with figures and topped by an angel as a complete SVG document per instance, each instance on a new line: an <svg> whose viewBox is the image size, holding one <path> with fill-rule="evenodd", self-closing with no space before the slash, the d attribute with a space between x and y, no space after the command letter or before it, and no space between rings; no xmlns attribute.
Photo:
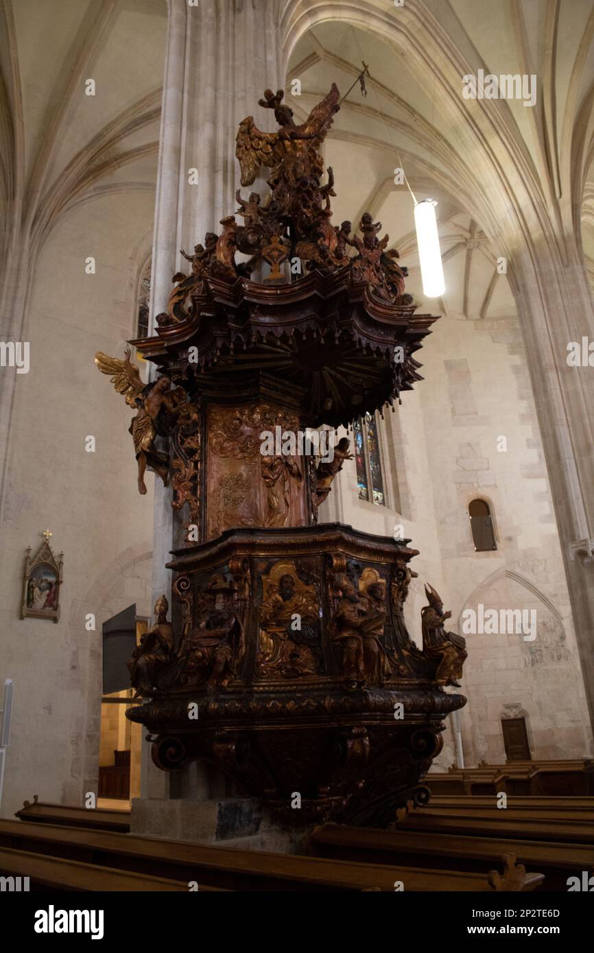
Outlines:
<svg viewBox="0 0 594 953"><path fill-rule="evenodd" d="M237 133L243 181L272 169L270 193L238 191L243 224L228 215L220 234L182 252L191 274L174 274L156 335L133 344L191 399L272 396L307 425L338 427L421 379L414 355L437 318L415 314L407 270L370 213L358 233L349 221L332 224L334 172L318 149L337 87L300 126L281 99L268 90L260 101L275 110L278 132L259 132L249 116Z"/></svg>

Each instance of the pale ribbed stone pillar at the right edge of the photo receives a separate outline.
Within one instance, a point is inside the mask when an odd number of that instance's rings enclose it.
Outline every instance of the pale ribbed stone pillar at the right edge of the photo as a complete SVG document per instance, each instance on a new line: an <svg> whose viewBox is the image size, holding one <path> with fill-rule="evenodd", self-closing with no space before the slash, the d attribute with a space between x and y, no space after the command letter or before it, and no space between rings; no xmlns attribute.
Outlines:
<svg viewBox="0 0 594 953"><path fill-rule="evenodd" d="M511 254L509 277L522 320L594 726L594 372L567 364L570 341L594 340L594 304L574 236L566 234L563 246L564 261L545 240L532 248L522 241Z"/></svg>

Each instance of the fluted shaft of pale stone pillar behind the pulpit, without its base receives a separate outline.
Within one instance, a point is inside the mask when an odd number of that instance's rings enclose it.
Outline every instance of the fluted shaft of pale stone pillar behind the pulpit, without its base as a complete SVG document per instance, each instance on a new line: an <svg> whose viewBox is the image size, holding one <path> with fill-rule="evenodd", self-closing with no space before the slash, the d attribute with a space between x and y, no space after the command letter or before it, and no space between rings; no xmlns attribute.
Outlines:
<svg viewBox="0 0 594 953"><path fill-rule="evenodd" d="M279 0L168 0L160 149L154 209L151 334L166 310L172 276L206 232L236 209L236 132L265 89L284 86ZM276 129L271 110L257 125ZM190 184L197 170L196 184ZM155 480L154 598L171 590L171 490Z"/></svg>

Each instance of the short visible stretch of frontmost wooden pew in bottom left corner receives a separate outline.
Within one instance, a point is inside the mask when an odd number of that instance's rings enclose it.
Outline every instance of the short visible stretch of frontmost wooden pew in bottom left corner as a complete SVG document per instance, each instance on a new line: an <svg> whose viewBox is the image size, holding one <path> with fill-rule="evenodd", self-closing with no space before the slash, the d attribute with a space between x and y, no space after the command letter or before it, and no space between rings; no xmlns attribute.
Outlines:
<svg viewBox="0 0 594 953"><path fill-rule="evenodd" d="M29 850L10 850L0 846L0 874L3 877L29 877L31 891L165 891L188 893L188 884L149 877L128 870L114 870L92 863L68 861ZM216 887L198 886L200 890ZM8 899L8 898L7 898ZM6 902L6 900L5 900Z"/></svg>

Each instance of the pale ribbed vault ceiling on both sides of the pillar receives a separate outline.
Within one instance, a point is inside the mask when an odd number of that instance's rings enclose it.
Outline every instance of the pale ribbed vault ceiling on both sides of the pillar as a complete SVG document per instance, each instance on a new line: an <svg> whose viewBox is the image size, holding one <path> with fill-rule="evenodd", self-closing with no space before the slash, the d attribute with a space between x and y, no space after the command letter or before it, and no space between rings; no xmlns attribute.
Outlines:
<svg viewBox="0 0 594 953"><path fill-rule="evenodd" d="M400 158L418 197L439 201L444 310L476 317L512 307L496 270L507 216L542 227L563 256L563 234L581 213L594 274L590 0L269 2L288 78L302 83L301 96L289 96L297 116L333 79L346 91L361 59L370 64L368 96L351 92L327 143L336 215L379 216L414 292L412 199L393 182ZM22 209L34 245L75 204L154 191L166 23L165 0L1 0L0 190L5 208ZM537 106L464 101L461 75L479 68L536 73ZM5 220L1 251L8 228Z"/></svg>

